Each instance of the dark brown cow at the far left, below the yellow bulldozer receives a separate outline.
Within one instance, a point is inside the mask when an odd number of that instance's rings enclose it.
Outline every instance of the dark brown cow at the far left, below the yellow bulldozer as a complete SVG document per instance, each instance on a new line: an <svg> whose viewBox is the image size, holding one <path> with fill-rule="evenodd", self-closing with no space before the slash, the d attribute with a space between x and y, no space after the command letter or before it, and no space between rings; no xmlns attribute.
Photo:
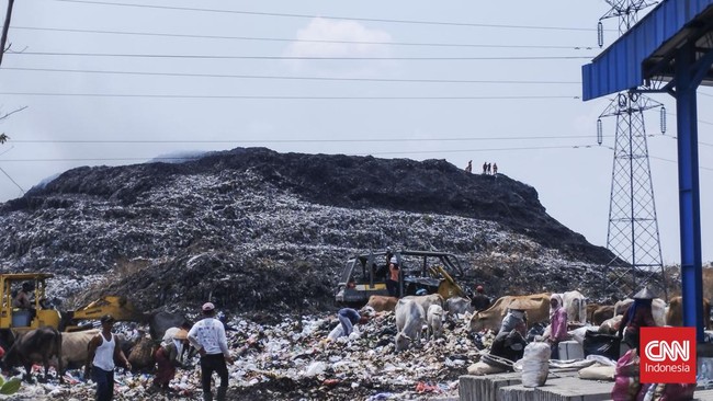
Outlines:
<svg viewBox="0 0 713 401"><path fill-rule="evenodd" d="M58 359L57 376L64 382L61 373L61 335L55 328L42 326L31 330L16 339L2 358L4 368L22 365L25 367L25 380L31 380L32 364L42 362L45 367L45 379L53 357Z"/></svg>

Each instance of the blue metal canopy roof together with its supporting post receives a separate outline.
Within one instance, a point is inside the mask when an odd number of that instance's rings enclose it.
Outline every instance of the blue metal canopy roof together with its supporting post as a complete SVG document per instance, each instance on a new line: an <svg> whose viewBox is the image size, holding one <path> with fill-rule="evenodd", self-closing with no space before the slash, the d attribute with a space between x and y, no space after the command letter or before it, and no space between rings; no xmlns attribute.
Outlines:
<svg viewBox="0 0 713 401"><path fill-rule="evenodd" d="M676 98L683 324L703 341L701 210L695 90L713 84L713 0L664 0L591 64L584 100L622 90ZM657 85L654 88L653 85Z"/></svg>

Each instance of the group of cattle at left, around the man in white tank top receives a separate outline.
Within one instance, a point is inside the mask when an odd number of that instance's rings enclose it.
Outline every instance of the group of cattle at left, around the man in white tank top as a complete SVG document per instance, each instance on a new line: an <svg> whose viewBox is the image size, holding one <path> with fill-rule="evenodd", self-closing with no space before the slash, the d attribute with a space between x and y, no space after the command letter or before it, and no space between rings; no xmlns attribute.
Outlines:
<svg viewBox="0 0 713 401"><path fill-rule="evenodd" d="M159 312L148 319L150 339L138 336L127 339L123 334L116 334L118 345L136 368L147 367L154 364L152 358L147 360L146 355L152 355L160 339L170 328L178 328L191 322L179 313ZM31 330L18 336L8 347L8 351L0 360L3 371L13 367L24 367L25 378L30 379L33 364L42 363L45 368L45 377L50 366L55 366L60 381L64 381L64 371L67 368L78 368L84 365L89 352L89 342L98 335L99 329L91 329L78 332L59 332L50 326L42 326ZM134 357L136 355L136 357ZM133 360L140 358L142 360Z"/></svg>

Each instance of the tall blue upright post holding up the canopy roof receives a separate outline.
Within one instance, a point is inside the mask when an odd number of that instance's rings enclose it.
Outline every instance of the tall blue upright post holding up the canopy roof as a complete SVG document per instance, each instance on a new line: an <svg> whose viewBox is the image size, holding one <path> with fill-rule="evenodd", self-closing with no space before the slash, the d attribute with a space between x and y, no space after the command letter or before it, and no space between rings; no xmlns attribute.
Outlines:
<svg viewBox="0 0 713 401"><path fill-rule="evenodd" d="M703 342L703 270L701 257L701 203L698 165L697 82L693 82L693 44L676 55L676 111L678 128L678 191L681 231L683 325L695 326Z"/></svg>

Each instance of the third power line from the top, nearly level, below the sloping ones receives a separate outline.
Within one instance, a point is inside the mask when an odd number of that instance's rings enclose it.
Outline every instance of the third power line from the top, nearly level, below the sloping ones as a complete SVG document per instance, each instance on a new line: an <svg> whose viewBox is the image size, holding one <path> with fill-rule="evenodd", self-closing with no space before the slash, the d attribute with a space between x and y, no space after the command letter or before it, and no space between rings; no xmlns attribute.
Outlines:
<svg viewBox="0 0 713 401"><path fill-rule="evenodd" d="M67 1L67 0L55 0ZM70 57L126 57L126 58L186 58L186 59L236 59L236 60L398 60L398 61L464 61L464 60L579 60L593 56L493 56L493 57L310 57L310 56L226 56L226 55L156 55L120 53L59 53L59 51L12 51L13 56L70 56Z"/></svg>

